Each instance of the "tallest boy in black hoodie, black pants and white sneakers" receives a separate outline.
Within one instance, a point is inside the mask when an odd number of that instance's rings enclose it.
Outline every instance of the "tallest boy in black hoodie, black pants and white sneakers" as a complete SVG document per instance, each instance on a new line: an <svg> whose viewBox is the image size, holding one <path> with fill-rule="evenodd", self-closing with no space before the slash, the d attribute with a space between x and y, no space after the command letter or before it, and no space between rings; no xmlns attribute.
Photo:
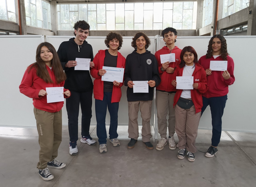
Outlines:
<svg viewBox="0 0 256 187"><path fill-rule="evenodd" d="M89 34L90 26L85 21L78 21L74 24L75 38L62 42L58 49L58 55L63 70L67 75L64 87L71 90L72 95L66 100L66 109L68 113L68 131L69 131L69 154L78 153L78 114L79 104L82 112L81 139L82 143L96 145L89 134L92 117L92 90L93 84L88 70L74 70L77 65L76 58L90 58L93 60L92 46L85 40ZM93 67L90 62L90 67Z"/></svg>

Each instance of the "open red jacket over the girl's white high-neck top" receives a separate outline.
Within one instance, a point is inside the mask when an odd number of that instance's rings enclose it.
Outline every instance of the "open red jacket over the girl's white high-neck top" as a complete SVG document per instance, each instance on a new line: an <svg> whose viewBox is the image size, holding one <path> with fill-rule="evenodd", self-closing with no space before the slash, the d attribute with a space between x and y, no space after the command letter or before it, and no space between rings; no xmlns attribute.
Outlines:
<svg viewBox="0 0 256 187"><path fill-rule="evenodd" d="M175 80L176 76L182 76L183 68L180 68L179 66L176 67L173 73L175 75ZM196 113L198 113L201 111L201 108L203 106L202 93L205 93L208 90L209 86L207 85L205 70L200 64L195 63L195 70L192 76L194 76L194 83L198 83L198 88L194 88L193 90L191 90L191 99L195 105ZM177 92L174 96L173 106L177 104L182 91L183 90L177 89Z"/></svg>

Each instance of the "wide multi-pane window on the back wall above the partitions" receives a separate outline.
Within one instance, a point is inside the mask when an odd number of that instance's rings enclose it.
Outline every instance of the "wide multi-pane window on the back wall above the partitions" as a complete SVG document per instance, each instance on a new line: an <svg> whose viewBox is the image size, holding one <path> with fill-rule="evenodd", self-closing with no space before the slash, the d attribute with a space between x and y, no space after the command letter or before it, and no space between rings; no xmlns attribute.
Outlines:
<svg viewBox="0 0 256 187"><path fill-rule="evenodd" d="M57 10L59 30L73 30L79 20L91 30L195 29L197 2L57 4Z"/></svg>

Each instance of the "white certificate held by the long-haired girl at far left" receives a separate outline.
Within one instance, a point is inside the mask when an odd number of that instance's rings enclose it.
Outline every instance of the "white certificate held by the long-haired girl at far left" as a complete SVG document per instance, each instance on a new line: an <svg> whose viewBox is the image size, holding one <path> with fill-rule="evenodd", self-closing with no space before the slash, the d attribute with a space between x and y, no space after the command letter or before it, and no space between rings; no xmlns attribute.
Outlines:
<svg viewBox="0 0 256 187"><path fill-rule="evenodd" d="M47 103L64 101L63 87L49 87L46 92Z"/></svg>

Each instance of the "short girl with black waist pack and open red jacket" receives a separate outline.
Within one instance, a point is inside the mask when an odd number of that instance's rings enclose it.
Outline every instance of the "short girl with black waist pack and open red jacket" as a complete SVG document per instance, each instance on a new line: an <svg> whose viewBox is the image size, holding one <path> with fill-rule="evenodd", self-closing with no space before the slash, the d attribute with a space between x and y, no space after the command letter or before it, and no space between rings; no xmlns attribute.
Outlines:
<svg viewBox="0 0 256 187"><path fill-rule="evenodd" d="M180 53L180 64L174 71L175 76L193 76L192 90L177 90L173 106L175 106L175 131L178 135L178 158L184 159L186 150L188 160L195 161L196 137L201 108L202 93L208 89L204 68L198 64L197 53L191 46L184 47ZM172 85L177 86L176 78Z"/></svg>

